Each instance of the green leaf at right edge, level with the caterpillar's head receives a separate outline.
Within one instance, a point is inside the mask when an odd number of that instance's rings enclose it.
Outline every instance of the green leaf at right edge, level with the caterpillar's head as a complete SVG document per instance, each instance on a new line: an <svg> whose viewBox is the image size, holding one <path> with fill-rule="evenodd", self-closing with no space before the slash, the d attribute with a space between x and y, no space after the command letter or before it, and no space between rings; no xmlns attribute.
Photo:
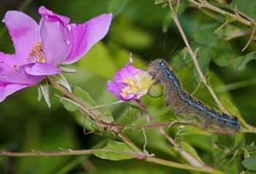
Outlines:
<svg viewBox="0 0 256 174"><path fill-rule="evenodd" d="M232 61L233 67L239 71L245 68L248 61L256 58L256 52L248 53L245 56L240 56Z"/></svg>

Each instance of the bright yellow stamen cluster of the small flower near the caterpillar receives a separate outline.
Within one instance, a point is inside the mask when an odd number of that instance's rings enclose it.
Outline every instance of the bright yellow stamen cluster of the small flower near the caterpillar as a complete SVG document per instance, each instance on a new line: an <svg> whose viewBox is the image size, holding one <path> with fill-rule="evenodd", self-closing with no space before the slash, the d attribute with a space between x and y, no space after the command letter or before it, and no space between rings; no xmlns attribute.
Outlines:
<svg viewBox="0 0 256 174"><path fill-rule="evenodd" d="M122 89L121 96L127 97L129 94L135 94L136 98L139 99L148 92L148 88L150 88L154 81L147 72L140 72L135 77L126 77L123 83L126 83L127 87Z"/></svg>

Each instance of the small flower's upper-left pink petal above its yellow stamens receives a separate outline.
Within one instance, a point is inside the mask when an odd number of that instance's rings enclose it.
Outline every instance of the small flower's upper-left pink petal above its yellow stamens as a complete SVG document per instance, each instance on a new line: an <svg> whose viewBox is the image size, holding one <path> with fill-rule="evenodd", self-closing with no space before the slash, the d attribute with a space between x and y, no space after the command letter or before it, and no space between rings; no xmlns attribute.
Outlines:
<svg viewBox="0 0 256 174"><path fill-rule="evenodd" d="M117 83L122 83L123 80L127 77L134 77L139 72L143 72L143 70L138 69L127 63L122 69L118 70L113 77L113 80Z"/></svg>

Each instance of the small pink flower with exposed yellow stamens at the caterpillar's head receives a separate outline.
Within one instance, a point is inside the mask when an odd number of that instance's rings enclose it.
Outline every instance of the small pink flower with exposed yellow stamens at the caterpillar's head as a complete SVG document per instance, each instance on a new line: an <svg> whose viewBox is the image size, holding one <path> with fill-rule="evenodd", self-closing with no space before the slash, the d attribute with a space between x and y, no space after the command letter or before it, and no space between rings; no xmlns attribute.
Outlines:
<svg viewBox="0 0 256 174"><path fill-rule="evenodd" d="M136 100L147 94L148 88L154 83L151 75L135 68L132 65L132 58L122 69L118 70L113 81L108 81L108 91L116 94L121 100Z"/></svg>

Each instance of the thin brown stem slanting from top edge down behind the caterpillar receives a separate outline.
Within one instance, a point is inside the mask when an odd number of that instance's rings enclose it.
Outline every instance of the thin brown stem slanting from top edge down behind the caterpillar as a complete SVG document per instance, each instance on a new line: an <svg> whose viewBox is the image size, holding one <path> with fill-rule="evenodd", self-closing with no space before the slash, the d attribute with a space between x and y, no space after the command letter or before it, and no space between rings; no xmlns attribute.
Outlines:
<svg viewBox="0 0 256 174"><path fill-rule="evenodd" d="M217 95L215 94L213 88L211 88L211 86L208 85L207 83L207 80L206 80L206 77L203 75L203 72L202 70L200 69L200 66L198 64L198 61L197 61L197 56L196 56L196 53L192 50L192 48L190 47L189 45L189 41L186 37L186 34L184 33L184 30L182 29L181 27L181 24L179 23L179 20L177 18L177 15L176 15L176 12L175 10L173 10L173 5L171 3L172 0L169 0L169 6L170 6L170 10L172 12L172 18L173 18L173 21L176 23L176 26L178 28L178 31L180 32L181 34L181 37L182 39L184 40L185 42L185 45L187 47L187 50L190 54L190 56L192 57L192 61L194 62L195 64L195 68L197 69L197 72L199 74L199 77L200 77L200 80L202 81L202 83L206 86L206 88L208 89L208 91L210 92L211 94L211 97L214 98L214 101L217 103L217 105L219 106L219 109L222 110L223 112L227 113L227 110L225 110L225 107L222 106L222 103L219 101L219 98L217 97ZM189 0L191 1L191 0Z"/></svg>

